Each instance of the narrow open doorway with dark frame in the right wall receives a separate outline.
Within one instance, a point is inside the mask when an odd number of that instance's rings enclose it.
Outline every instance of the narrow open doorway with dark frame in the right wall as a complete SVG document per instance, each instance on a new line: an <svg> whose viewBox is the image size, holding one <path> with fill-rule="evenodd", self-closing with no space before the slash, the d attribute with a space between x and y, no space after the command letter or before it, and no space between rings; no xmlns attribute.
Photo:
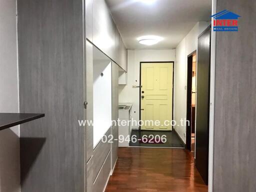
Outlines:
<svg viewBox="0 0 256 192"><path fill-rule="evenodd" d="M194 156L195 149L195 99L196 99L196 50L187 56L186 148Z"/></svg>

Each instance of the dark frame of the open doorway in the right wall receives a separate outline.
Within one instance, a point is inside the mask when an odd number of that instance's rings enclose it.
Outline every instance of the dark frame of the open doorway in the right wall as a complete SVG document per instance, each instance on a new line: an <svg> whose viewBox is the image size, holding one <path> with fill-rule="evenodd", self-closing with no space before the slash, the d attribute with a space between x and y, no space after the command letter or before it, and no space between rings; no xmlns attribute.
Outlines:
<svg viewBox="0 0 256 192"><path fill-rule="evenodd" d="M196 50L187 55L187 82L186 82L186 149L191 150L191 110L192 110L192 57L196 54ZM196 55L197 56L197 55Z"/></svg>

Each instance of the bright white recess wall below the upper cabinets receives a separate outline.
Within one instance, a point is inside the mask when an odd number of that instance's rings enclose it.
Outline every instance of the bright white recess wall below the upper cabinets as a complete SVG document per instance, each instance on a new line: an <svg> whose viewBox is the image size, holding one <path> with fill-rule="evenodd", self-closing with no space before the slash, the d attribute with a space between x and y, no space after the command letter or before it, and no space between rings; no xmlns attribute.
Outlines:
<svg viewBox="0 0 256 192"><path fill-rule="evenodd" d="M93 60L93 147L111 126L111 102L111 60Z"/></svg>

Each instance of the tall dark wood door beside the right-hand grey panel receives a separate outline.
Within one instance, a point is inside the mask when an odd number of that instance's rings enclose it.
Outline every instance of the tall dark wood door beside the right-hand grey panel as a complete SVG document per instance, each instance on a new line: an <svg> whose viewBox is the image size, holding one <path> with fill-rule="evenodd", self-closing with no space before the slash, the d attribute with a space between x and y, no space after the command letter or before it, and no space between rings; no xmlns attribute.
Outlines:
<svg viewBox="0 0 256 192"><path fill-rule="evenodd" d="M208 183L210 27L198 37L195 166Z"/></svg>

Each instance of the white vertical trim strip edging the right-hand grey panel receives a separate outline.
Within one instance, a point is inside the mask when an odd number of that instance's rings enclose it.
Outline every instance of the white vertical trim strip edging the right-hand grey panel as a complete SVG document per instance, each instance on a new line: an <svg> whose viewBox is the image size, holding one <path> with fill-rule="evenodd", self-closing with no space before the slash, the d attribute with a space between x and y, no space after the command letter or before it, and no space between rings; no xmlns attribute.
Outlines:
<svg viewBox="0 0 256 192"><path fill-rule="evenodd" d="M212 14L217 10L216 0L212 0ZM211 19L213 26L213 19ZM211 50L210 50L210 108L209 108L209 162L208 162L208 192L213 190L213 136L214 136L214 93L215 93L215 52L216 32L211 27Z"/></svg>

